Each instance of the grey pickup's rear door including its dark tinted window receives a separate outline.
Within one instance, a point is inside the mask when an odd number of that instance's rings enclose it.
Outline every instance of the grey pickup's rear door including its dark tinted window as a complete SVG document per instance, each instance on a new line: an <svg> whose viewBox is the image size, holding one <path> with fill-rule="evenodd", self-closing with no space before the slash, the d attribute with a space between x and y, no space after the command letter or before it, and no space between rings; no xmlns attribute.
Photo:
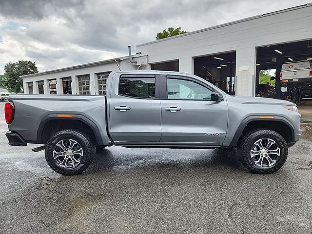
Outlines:
<svg viewBox="0 0 312 234"><path fill-rule="evenodd" d="M159 75L114 77L108 102L108 127L115 144L159 142Z"/></svg>

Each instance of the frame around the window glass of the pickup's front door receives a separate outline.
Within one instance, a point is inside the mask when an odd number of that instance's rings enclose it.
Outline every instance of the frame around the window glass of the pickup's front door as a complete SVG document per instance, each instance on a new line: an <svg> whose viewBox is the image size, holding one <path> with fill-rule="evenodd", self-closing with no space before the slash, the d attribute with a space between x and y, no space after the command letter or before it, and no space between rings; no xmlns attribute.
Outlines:
<svg viewBox="0 0 312 234"><path fill-rule="evenodd" d="M162 79L162 83L161 83L161 87L165 87L163 88L163 92L161 93L161 100L183 100L183 101L212 101L212 100L201 100L201 99L182 99L182 98L168 98L168 85L167 85L167 78L170 79L184 79L184 80L188 80L188 81L193 81L201 86L206 87L207 89L209 89L212 92L215 92L215 89L213 87L210 87L209 85L201 82L200 80L191 78L191 77L187 77L187 76L180 76L180 75L165 75L164 78ZM219 92L218 92L219 93ZM220 93L220 95L223 97L223 95ZM224 97L223 97L224 100Z"/></svg>

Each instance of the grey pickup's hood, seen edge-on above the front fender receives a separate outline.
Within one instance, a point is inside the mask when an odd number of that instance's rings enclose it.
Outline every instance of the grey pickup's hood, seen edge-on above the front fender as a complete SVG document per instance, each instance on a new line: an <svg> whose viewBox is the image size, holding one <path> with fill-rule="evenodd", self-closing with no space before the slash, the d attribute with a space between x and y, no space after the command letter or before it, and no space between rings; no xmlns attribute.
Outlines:
<svg viewBox="0 0 312 234"><path fill-rule="evenodd" d="M268 104L268 105L288 105L293 106L294 104L290 101L273 99L273 98L261 98L261 97L245 97L245 96L233 96L236 101L242 104Z"/></svg>

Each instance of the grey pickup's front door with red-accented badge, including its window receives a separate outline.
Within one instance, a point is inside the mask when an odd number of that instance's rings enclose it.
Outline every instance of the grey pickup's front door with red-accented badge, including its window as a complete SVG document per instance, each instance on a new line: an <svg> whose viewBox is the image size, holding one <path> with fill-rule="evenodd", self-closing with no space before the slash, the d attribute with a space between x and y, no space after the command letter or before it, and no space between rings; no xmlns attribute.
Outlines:
<svg viewBox="0 0 312 234"><path fill-rule="evenodd" d="M183 76L161 76L161 142L222 145L228 105L211 101L213 88ZM165 92L163 92L165 90Z"/></svg>

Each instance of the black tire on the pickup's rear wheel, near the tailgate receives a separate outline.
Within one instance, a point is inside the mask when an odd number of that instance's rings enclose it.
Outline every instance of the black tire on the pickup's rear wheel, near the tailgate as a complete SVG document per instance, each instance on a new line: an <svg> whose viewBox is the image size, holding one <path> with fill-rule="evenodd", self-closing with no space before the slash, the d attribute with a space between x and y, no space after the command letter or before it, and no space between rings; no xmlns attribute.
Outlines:
<svg viewBox="0 0 312 234"><path fill-rule="evenodd" d="M59 145L57 145L58 142L60 142L61 140L64 140L62 142L64 142L65 145L67 142L67 146L69 146L68 145L68 142L70 142L69 139L71 139L72 141L76 141L78 144L76 144L74 146L77 148L74 149L74 147L73 147L73 151L71 151L71 153L69 153L72 155L70 155L70 156L66 155L66 156L67 157L73 157L74 156L75 159L77 161L79 161L79 163L76 162L77 165L69 165L69 167L65 168L65 167L62 167L61 165L59 165L59 163L57 161L57 160L63 160L63 158L65 158L65 156L60 155L56 159L54 159L53 155L55 154L54 151L60 151L61 152L63 150ZM66 150L69 150L69 149L66 149ZM72 150L72 149L70 149L70 150ZM80 150L81 150L81 152L80 152ZM75 152L78 152L78 151L79 151L79 153L78 153L78 155L76 155ZM93 159L95 157L95 153L96 153L96 148L92 142L92 139L87 134L76 131L76 130L62 130L62 131L59 131L56 134L54 134L48 140L48 142L46 144L46 148L45 148L45 159L46 159L47 163L49 164L49 166L55 172L62 174L62 175L65 175L65 176L73 176L73 175L81 174L84 170L86 170L90 166L91 162L93 161ZM62 154L62 153L58 153L58 154ZM59 157L60 157L60 159L59 159ZM70 158L68 158L66 160L66 164L74 164L74 161L72 159L70 159L70 160L72 160L72 163L71 163L70 161L68 161L69 159ZM66 166L68 166L68 165L66 165Z"/></svg>

